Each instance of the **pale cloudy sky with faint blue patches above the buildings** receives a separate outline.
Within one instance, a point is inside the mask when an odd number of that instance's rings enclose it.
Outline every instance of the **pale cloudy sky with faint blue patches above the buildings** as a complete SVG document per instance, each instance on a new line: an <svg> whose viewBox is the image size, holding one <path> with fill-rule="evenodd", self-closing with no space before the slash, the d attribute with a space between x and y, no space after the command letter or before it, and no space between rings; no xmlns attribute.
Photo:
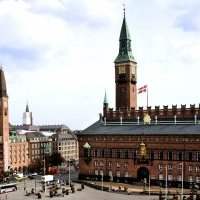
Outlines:
<svg viewBox="0 0 200 200"><path fill-rule="evenodd" d="M114 59L124 0L1 0L0 63L10 122L22 123L29 102L35 124L83 129L98 120L104 91L115 107ZM199 2L126 0L138 62L138 87L149 104L200 103ZM145 106L145 95L138 97Z"/></svg>

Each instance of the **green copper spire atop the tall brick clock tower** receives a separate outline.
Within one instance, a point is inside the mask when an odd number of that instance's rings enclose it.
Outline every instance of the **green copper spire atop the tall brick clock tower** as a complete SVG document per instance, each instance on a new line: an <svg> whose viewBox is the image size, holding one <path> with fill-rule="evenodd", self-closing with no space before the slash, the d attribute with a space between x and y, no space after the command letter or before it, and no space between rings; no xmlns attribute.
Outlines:
<svg viewBox="0 0 200 200"><path fill-rule="evenodd" d="M126 23L126 17L124 15L120 37L119 37L119 54L115 59L115 63L122 63L126 61L133 61L135 59L132 54L131 49L131 36L128 30L128 25Z"/></svg>

